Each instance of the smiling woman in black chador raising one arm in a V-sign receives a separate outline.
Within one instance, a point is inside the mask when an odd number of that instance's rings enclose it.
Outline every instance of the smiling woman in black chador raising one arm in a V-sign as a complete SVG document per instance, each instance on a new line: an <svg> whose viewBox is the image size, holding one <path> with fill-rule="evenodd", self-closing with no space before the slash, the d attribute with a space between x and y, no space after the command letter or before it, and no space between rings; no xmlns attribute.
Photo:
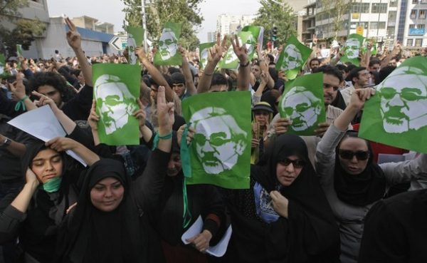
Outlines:
<svg viewBox="0 0 427 263"><path fill-rule="evenodd" d="M172 145L174 105L157 93L159 135L142 176L130 184L123 163L102 159L85 174L75 209L65 218L58 262L162 262L154 233Z"/></svg>

